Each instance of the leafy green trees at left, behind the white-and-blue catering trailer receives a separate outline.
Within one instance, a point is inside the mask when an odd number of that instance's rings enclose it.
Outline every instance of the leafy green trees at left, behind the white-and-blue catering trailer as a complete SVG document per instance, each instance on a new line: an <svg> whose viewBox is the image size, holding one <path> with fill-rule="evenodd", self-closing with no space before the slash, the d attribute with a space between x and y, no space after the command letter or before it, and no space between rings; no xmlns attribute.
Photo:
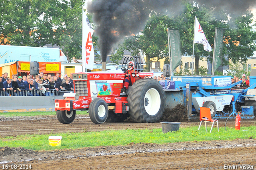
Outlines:
<svg viewBox="0 0 256 170"><path fill-rule="evenodd" d="M84 0L0 0L0 4L1 44L56 44L69 57L81 57Z"/></svg>

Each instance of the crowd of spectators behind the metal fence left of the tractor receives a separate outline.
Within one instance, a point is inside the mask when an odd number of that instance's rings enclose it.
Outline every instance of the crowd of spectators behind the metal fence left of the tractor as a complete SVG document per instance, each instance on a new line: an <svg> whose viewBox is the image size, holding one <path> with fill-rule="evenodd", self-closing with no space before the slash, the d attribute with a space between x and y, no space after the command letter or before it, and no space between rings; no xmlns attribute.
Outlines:
<svg viewBox="0 0 256 170"><path fill-rule="evenodd" d="M0 77L0 96L45 96L58 95L60 91L73 91L73 74L70 77L64 74L64 79L60 78L60 73L56 75L40 73L31 75L2 74Z"/></svg>

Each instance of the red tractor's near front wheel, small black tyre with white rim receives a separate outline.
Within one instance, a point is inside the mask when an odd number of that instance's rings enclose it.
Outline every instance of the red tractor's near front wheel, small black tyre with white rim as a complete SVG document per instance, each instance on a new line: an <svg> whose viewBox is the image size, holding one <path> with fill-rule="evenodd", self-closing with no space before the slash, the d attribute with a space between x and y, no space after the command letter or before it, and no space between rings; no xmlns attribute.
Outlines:
<svg viewBox="0 0 256 170"><path fill-rule="evenodd" d="M108 118L108 105L100 98L94 99L89 106L89 116L93 123L104 123Z"/></svg>

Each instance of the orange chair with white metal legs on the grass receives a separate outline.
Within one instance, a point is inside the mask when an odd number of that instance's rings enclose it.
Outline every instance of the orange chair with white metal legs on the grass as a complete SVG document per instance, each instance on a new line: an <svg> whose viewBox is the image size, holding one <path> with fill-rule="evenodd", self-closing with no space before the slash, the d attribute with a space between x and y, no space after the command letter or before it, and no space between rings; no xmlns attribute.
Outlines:
<svg viewBox="0 0 256 170"><path fill-rule="evenodd" d="M205 132L207 132L206 122L212 123L212 127L213 127L214 122L216 121L217 122L218 131L219 131L219 124L218 124L219 120L212 119L210 108L208 108L208 107L200 107L200 121L201 122L200 122L198 130L200 129L200 126L201 126L202 122L204 122L205 123ZM212 128L210 130L210 133L211 132L212 132Z"/></svg>

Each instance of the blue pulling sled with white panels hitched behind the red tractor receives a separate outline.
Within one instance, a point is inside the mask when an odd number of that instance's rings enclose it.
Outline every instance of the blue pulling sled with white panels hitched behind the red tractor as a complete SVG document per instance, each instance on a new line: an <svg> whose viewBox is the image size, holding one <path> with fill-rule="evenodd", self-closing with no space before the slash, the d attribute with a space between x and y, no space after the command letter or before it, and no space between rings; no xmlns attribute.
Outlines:
<svg viewBox="0 0 256 170"><path fill-rule="evenodd" d="M241 112L242 119L254 119L255 75L256 67L252 68L249 87L236 87L242 80L232 84L231 76L173 76L170 81L160 81L160 84L168 93L166 108L186 105L188 119L197 117L200 107L210 108L213 119L226 119L237 112Z"/></svg>

